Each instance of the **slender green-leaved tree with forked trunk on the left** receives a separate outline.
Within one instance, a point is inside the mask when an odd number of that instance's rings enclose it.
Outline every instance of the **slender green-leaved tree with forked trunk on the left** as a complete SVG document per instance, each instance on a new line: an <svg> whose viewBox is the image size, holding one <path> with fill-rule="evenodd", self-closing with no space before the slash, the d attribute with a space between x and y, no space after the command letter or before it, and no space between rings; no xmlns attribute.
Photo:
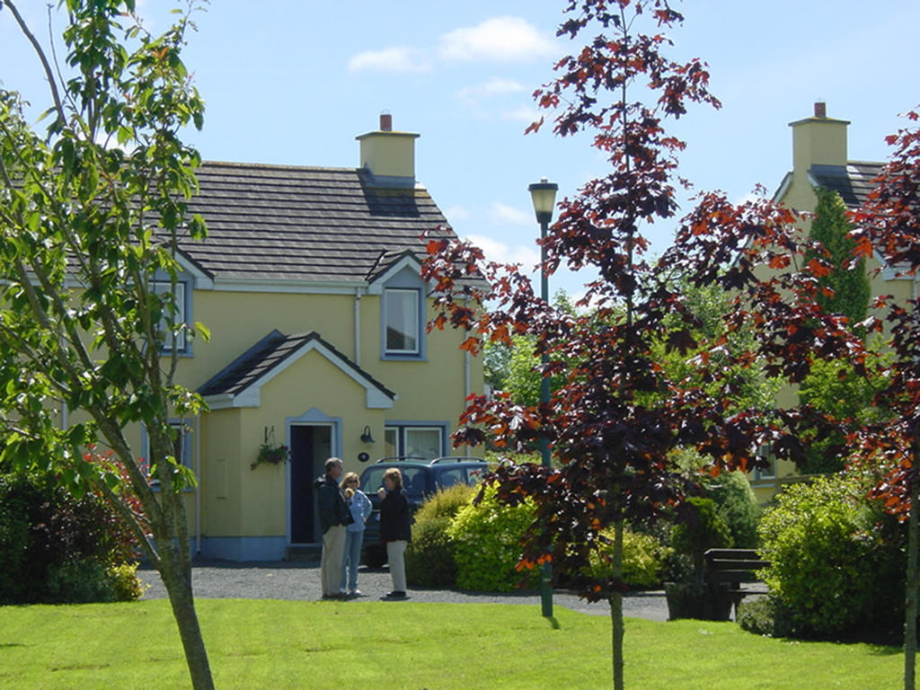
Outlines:
<svg viewBox="0 0 920 690"><path fill-rule="evenodd" d="M186 207L199 155L178 136L202 123L180 58L195 7L156 37L134 0L64 0L57 64L17 4L3 0L0 20L35 48L50 124L33 131L17 93L0 91L2 459L116 507L166 585L192 685L211 688L183 500L195 477L170 425L203 408L176 383L171 347L206 336L179 322L173 297L178 237L205 235ZM126 433L139 424L144 462Z"/></svg>

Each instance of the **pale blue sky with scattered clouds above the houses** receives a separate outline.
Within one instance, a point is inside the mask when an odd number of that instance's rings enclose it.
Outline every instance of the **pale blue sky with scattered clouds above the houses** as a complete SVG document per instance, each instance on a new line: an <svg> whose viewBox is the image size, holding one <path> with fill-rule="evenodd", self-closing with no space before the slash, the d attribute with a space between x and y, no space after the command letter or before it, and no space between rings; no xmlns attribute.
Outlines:
<svg viewBox="0 0 920 690"><path fill-rule="evenodd" d="M45 3L19 4L47 36ZM387 110L395 129L420 133L417 177L457 233L493 259L533 266L527 185L546 176L560 196L572 195L606 171L586 138L559 140L548 127L523 135L536 115L531 94L580 46L555 37L567 4L213 0L185 53L207 101L204 130L188 139L209 160L353 167L354 137L376 129ZM884 136L903 125L897 114L920 103L917 0L674 5L686 20L669 32L670 54L707 61L723 104L673 123L688 144L680 172L698 190L734 200L758 183L775 190L791 167L788 122L811 115L815 100L852 122L855 160L883 160ZM175 4L139 6L155 31ZM40 71L11 19L0 12L0 82L44 105ZM650 228L653 251L672 232ZM581 282L559 275L551 290L578 294Z"/></svg>

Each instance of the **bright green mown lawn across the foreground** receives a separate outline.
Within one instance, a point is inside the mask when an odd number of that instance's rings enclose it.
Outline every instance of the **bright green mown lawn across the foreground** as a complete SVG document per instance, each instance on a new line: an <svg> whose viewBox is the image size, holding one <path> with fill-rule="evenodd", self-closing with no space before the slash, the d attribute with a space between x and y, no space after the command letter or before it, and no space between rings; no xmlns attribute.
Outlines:
<svg viewBox="0 0 920 690"><path fill-rule="evenodd" d="M610 622L557 607L199 600L218 688L610 687ZM627 619L628 688L880 688L900 650ZM0 687L182 688L166 601L0 608Z"/></svg>

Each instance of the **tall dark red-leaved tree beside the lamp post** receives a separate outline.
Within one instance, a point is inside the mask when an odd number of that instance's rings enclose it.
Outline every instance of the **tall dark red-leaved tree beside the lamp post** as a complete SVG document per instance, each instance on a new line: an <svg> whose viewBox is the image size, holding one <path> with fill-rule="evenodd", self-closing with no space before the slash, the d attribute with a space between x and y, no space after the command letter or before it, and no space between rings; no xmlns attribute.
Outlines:
<svg viewBox="0 0 920 690"><path fill-rule="evenodd" d="M807 408L747 405L739 372L800 382L814 358L852 355L858 371L863 363L845 317L817 306L816 276L828 265L817 247L806 259L793 212L763 199L736 206L712 193L677 219L675 186L684 183L676 156L684 142L666 132L666 121L692 105L719 107L704 63L663 55L670 41L661 31L683 17L663 0L583 0L568 13L558 34L591 38L558 61L556 79L535 98L553 111L558 136L590 133L610 172L558 205L542 268L552 273L564 264L596 276L580 303L590 310L553 309L520 267L487 262L459 241L432 240L424 272L439 309L430 328L465 328L470 351L529 335L535 362L549 355L535 367L562 382L547 405L471 397L454 441L551 444L554 467L506 463L491 478L501 500L536 506L520 567L549 562L582 596L609 602L614 686L621 688L624 523L681 512L695 487L677 471L674 451L695 448L713 472L751 469L764 451L799 461L802 434L833 420ZM678 227L658 260L642 234L653 223ZM485 280L469 281L474 274ZM730 295L718 335L701 337L680 284ZM742 330L757 337L729 347ZM690 374L661 365L662 342L693 363ZM586 566L610 533L613 575L598 579Z"/></svg>

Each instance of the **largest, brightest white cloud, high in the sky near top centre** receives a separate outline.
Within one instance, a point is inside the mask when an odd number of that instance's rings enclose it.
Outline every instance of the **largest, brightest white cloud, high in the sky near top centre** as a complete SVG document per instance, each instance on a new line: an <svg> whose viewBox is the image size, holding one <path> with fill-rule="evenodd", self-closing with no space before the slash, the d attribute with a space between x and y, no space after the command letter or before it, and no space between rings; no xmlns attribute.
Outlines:
<svg viewBox="0 0 920 690"><path fill-rule="evenodd" d="M558 52L552 40L521 17L486 19L476 27L454 29L441 37L445 60L521 63Z"/></svg>

